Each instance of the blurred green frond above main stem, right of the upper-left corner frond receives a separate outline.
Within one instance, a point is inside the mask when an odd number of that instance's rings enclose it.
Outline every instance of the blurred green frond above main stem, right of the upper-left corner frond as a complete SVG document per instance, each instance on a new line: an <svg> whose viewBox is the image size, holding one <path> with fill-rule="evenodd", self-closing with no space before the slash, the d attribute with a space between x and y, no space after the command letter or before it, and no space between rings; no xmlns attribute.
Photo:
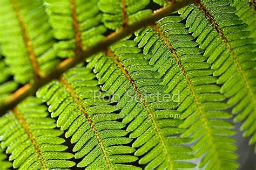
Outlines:
<svg viewBox="0 0 256 170"><path fill-rule="evenodd" d="M58 56L77 55L103 39L106 28L100 24L96 4L96 0L46 0L53 35L60 40L53 45Z"/></svg>

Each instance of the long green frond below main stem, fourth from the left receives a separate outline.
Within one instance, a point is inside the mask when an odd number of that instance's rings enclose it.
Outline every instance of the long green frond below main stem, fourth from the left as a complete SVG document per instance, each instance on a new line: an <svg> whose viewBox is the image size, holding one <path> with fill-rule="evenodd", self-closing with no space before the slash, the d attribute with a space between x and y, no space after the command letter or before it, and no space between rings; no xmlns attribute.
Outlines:
<svg viewBox="0 0 256 170"><path fill-rule="evenodd" d="M196 158L202 158L199 167L206 169L238 168L235 134L232 123L225 121L231 115L225 96L214 83L213 70L203 50L188 34L178 16L165 17L152 27L136 33L139 47L144 47L152 70L159 72L161 84L167 84L167 93L180 94L178 111L185 119L181 128L188 128L183 137L191 137ZM231 146L231 147L229 147Z"/></svg>

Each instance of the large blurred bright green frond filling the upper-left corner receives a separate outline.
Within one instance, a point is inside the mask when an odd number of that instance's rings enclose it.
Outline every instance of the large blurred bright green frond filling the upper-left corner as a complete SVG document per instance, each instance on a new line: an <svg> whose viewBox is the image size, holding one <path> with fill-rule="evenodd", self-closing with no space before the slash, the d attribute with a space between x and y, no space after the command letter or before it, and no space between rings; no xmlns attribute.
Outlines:
<svg viewBox="0 0 256 170"><path fill-rule="evenodd" d="M48 17L39 1L0 1L0 42L5 63L19 83L49 73L58 63Z"/></svg>

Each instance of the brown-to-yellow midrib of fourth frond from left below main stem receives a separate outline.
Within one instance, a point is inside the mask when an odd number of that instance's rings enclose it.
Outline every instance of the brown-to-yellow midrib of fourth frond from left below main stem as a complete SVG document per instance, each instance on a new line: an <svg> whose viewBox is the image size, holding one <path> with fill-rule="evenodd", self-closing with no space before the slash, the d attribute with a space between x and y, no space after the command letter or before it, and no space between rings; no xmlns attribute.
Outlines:
<svg viewBox="0 0 256 170"><path fill-rule="evenodd" d="M192 96L194 98L194 101L198 107L198 110L199 110L199 114L200 114L200 119L201 119L201 122L203 122L203 125L204 125L204 129L206 131L206 134L208 136L208 139L209 139L209 142L210 142L210 145L212 147L212 150L214 152L214 157L215 157L215 160L217 162L217 167L218 169L221 169L221 164L220 164L220 159L219 159L219 155L218 155L218 152L217 152L217 149L216 149L216 146L214 144L214 140L213 140L213 134L210 130L210 126L208 125L208 120L207 120L207 117L205 115L205 112L201 106L201 103L199 101L199 98L196 94L196 90L194 89L193 87L193 84L190 80L190 77L188 76L187 72L186 72L186 69L184 68L183 64L181 63L176 51L174 50L174 48L172 47L171 45L171 42L167 39L167 37L165 36L165 34L163 33L163 31L161 31L160 27L158 27L156 24L153 24L152 25L153 29L157 31L157 33L159 34L159 36L164 40L165 42L165 45L167 46L167 48L171 51L174 59L176 60L178 66L180 67L181 69L181 72L183 73L183 75L185 76L185 79L186 79L186 82L188 84L188 87L190 88L191 90L191 93L192 93Z"/></svg>

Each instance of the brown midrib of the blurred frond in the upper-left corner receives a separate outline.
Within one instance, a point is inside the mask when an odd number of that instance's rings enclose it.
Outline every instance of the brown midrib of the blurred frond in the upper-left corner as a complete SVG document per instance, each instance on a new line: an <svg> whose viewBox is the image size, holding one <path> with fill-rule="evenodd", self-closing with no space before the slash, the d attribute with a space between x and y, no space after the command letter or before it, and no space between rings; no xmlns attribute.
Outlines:
<svg viewBox="0 0 256 170"><path fill-rule="evenodd" d="M36 59L36 54L35 54L35 51L33 49L32 42L31 42L31 40L28 36L28 32L26 31L26 27L23 23L23 19L22 19L22 16L21 16L21 13L20 13L20 10L19 10L19 6L18 6L16 0L11 0L11 4L12 4L12 8L14 9L14 12L16 14L19 26L21 27L21 31L22 31L22 34L23 34L23 39L25 41L26 48L28 49L29 58L30 58L30 61L31 61L31 65L32 65L32 69L33 69L35 79L38 79L39 77L42 77L42 75L40 73L40 67L39 67L37 59Z"/></svg>

